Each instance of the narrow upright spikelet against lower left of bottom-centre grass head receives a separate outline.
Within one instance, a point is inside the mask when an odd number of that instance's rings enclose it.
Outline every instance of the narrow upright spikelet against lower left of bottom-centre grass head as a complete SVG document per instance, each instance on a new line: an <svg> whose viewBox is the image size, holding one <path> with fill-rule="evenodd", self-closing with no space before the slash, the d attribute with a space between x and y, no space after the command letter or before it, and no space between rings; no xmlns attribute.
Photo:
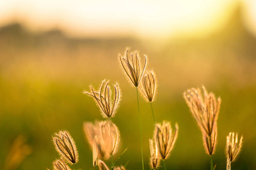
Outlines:
<svg viewBox="0 0 256 170"><path fill-rule="evenodd" d="M150 142L150 168L158 168L160 159L158 155L158 146L156 142L154 142L152 139L149 139Z"/></svg>

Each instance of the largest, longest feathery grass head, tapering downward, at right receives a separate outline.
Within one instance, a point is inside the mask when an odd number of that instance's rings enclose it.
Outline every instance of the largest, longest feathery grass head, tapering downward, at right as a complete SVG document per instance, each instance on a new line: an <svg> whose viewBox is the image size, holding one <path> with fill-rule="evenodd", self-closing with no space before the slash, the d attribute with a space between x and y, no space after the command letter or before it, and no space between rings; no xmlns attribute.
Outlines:
<svg viewBox="0 0 256 170"><path fill-rule="evenodd" d="M203 144L208 155L214 154L217 144L217 119L220 113L221 99L203 86L203 95L199 88L184 92L184 99L191 110L197 125L203 134Z"/></svg>

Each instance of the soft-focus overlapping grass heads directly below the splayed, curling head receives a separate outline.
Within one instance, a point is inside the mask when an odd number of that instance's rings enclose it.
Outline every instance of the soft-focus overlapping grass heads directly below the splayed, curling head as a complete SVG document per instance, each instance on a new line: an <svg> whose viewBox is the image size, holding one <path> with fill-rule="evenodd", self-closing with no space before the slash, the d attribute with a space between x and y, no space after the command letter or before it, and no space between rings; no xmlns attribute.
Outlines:
<svg viewBox="0 0 256 170"><path fill-rule="evenodd" d="M98 158L108 160L110 155L117 152L120 134L117 126L110 120L96 122L95 125L84 122L84 132L94 152L97 150Z"/></svg>

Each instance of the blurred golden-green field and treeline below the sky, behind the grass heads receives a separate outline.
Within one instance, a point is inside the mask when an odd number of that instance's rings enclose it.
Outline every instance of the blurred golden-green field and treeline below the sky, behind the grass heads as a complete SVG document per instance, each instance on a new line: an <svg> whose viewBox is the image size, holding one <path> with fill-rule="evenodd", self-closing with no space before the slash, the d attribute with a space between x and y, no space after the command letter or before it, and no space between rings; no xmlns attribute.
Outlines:
<svg viewBox="0 0 256 170"><path fill-rule="evenodd" d="M127 169L142 169L136 90L127 82L117 58L126 46L147 54L148 69L156 73L156 121L179 124L176 146L166 161L168 169L209 169L200 130L183 99L185 90L202 84L222 99L213 155L216 169L225 169L225 142L230 131L244 137L232 169L256 169L256 39L243 27L239 12L221 32L204 39L71 39L59 31L31 33L19 24L1 28L0 169L19 134L27 138L32 154L18 169L52 168L58 155L51 135L61 129L68 130L77 144L77 167L92 169L92 151L84 139L82 123L104 119L82 91L90 84L98 87L103 79L119 82L122 90L121 107L113 118L121 133L117 155L129 148L119 163L129 161ZM154 123L150 104L141 97L139 102L144 164L149 169L148 139Z"/></svg>

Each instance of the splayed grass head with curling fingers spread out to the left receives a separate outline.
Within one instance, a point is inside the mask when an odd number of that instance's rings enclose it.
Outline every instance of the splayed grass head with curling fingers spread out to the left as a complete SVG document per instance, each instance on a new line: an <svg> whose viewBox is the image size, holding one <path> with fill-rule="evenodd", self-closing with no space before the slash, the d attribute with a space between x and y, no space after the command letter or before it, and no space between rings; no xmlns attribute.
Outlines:
<svg viewBox="0 0 256 170"><path fill-rule="evenodd" d="M118 83L113 84L114 95L109 86L109 80L103 80L100 88L96 91L93 86L90 86L90 92L83 91L84 94L93 97L94 101L100 108L101 114L104 118L111 118L115 116L119 103L121 101L121 89Z"/></svg>

